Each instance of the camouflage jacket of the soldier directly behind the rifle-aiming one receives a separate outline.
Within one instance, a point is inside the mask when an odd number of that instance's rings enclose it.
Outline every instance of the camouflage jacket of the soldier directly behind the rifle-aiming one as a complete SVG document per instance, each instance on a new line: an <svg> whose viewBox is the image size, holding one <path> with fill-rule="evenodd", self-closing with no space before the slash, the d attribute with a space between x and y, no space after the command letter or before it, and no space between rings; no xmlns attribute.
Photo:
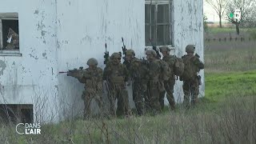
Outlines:
<svg viewBox="0 0 256 144"><path fill-rule="evenodd" d="M128 81L128 70L125 65L119 63L114 65L111 61L106 64L103 71L103 80L114 84L124 84Z"/></svg>

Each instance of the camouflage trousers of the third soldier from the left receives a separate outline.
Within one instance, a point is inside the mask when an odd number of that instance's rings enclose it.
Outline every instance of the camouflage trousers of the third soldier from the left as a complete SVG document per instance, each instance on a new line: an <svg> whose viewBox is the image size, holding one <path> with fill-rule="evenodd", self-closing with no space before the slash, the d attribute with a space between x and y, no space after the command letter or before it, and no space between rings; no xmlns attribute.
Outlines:
<svg viewBox="0 0 256 144"><path fill-rule="evenodd" d="M143 98L146 94L146 86L143 86L141 82L134 82L133 83L133 100L136 106L137 114L143 114L143 105L144 101Z"/></svg>

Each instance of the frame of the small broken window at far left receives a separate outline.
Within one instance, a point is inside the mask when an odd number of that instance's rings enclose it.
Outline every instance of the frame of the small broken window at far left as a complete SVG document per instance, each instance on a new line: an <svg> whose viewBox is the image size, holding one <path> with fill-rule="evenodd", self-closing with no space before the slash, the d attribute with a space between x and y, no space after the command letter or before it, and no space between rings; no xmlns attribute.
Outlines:
<svg viewBox="0 0 256 144"><path fill-rule="evenodd" d="M0 13L0 56L22 56L20 47L18 50L3 50L2 20L18 20L18 13Z"/></svg>

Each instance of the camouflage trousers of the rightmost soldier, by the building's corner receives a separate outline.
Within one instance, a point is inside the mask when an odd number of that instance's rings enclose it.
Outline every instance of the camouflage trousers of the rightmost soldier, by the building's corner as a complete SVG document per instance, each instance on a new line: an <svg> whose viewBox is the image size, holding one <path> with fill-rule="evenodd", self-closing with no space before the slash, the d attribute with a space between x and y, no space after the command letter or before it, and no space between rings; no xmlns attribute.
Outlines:
<svg viewBox="0 0 256 144"><path fill-rule="evenodd" d="M191 105L193 106L198 102L199 94L199 82L198 78L195 77L190 81L183 81L183 93L184 93L184 104L186 107L190 106L190 96L191 96Z"/></svg>

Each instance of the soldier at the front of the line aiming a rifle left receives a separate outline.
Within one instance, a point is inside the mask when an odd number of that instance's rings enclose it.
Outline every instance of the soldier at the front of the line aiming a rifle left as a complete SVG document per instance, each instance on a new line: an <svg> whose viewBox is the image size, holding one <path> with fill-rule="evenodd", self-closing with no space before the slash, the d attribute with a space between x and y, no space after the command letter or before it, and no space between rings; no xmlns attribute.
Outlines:
<svg viewBox="0 0 256 144"><path fill-rule="evenodd" d="M90 117L90 103L94 98L98 102L100 113L102 112L102 74L103 70L98 66L98 61L95 58L90 58L87 61L89 68L86 70L77 70L73 74L68 73L68 76L78 78L79 82L85 84L85 90L82 92L84 101L84 118Z"/></svg>

